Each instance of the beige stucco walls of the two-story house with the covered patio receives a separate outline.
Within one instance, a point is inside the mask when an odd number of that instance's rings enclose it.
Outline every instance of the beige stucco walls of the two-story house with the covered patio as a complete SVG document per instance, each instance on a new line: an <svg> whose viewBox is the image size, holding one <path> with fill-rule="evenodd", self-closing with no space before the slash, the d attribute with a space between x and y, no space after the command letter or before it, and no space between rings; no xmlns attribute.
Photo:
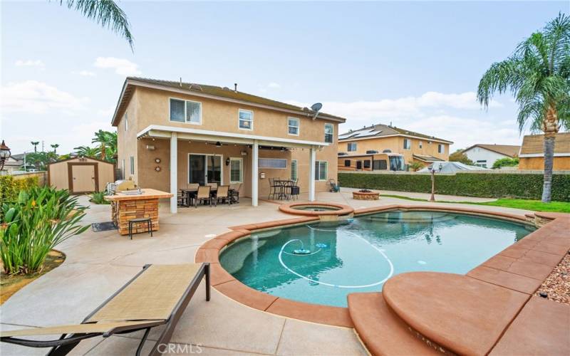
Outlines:
<svg viewBox="0 0 570 356"><path fill-rule="evenodd" d="M194 125L184 122L171 122L169 120L169 98L195 100L202 103L202 125ZM253 130L239 130L239 109L252 110L254 112ZM336 153L338 124L328 120L312 120L301 115L289 115L268 109L254 108L247 105L237 105L212 99L198 98L192 95L180 95L168 93L162 90L149 88L136 88L133 98L126 110L128 115L128 130L125 131L124 116L118 123L118 164L125 159L125 178L131 177L140 187L170 190L170 140L145 138L137 140L136 134L149 125L166 125L172 127L190 127L199 130L211 130L218 132L232 132L246 135L259 135L266 137L280 137L291 140L324 141L325 123L331 123L334 127L333 144L316 152L317 160L328 162L327 179L337 179ZM299 119L299 135L289 135L287 117ZM222 172L224 184L229 184L229 167L224 161L227 157L242 157L244 167L244 182L242 194L245 197L252 195L252 149L245 145L224 145L215 147L206 145L204 142L188 142L178 140L178 187L186 187L188 182L188 154L219 154L222 155ZM155 150L147 150L147 145L152 145ZM241 152L247 152L242 156ZM135 157L135 174L130 174L129 157ZM281 152L279 150L259 150L260 158L286 158L287 169L259 169L259 173L265 173L265 179L259 179L259 197L265 199L269 194L269 177L289 178L291 176L291 159L297 160L297 174L301 192L309 191L309 150L296 148ZM159 158L160 163L155 163ZM156 172L155 167L160 167ZM316 191L327 189L326 181L315 182Z"/></svg>

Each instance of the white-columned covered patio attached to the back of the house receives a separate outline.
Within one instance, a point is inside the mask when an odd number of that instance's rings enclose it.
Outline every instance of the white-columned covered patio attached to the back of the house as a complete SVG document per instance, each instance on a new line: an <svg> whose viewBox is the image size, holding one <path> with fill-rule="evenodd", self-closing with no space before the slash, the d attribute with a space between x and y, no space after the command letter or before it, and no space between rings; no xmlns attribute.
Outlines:
<svg viewBox="0 0 570 356"><path fill-rule="evenodd" d="M316 153L328 143L264 137L194 128L150 125L138 132L139 162L169 162L169 174L159 179L139 174L140 187L164 189L174 196L170 212L177 213L177 193L188 184L241 184L240 196L259 205L269 195L270 178L299 179L301 193L315 200ZM167 155L166 155L167 152ZM162 157L160 157L162 156ZM261 167L259 164L261 162ZM157 166L159 167L159 166ZM155 167L156 168L156 167ZM142 169L145 172L150 169ZM156 173L155 173L156 174Z"/></svg>

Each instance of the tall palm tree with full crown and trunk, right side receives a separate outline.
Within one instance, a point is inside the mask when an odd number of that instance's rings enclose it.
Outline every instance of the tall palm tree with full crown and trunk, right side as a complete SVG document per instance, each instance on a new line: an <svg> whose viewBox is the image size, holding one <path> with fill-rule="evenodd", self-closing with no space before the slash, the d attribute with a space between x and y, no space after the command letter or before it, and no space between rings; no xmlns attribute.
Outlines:
<svg viewBox="0 0 570 356"><path fill-rule="evenodd" d="M544 132L542 201L551 200L554 140L560 128L570 127L570 18L559 14L542 31L519 43L504 61L484 73L477 99L489 106L496 92L512 93L519 104L519 132L529 124Z"/></svg>

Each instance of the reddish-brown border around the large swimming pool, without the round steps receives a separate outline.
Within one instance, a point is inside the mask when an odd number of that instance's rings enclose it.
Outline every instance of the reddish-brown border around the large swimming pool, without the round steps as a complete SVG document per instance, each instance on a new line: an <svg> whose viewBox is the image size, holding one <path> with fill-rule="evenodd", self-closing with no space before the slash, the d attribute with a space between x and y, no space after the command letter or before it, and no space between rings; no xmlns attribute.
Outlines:
<svg viewBox="0 0 570 356"><path fill-rule="evenodd" d="M306 203L296 203L306 205ZM316 203L321 206L341 206L341 204ZM281 205L284 206L284 205ZM279 209L281 209L279 206ZM294 210L294 209L291 209ZM489 258L480 266L472 269L466 276L475 280L514 290L519 293L532 295L541 286L544 278L549 276L554 266L557 266L564 254L570 248L570 237L564 233L570 224L570 216L564 214L535 213L526 216L508 214L498 211L485 211L451 206L391 204L365 209L352 209L348 214L356 216L374 214L382 211L413 210L413 211L447 211L458 214L507 219L516 222L534 223L541 219L543 226L527 235L523 240L505 248L497 255ZM302 211L304 214L322 213L323 211ZM333 215L343 214L342 211L332 212ZM299 210L292 214L299 214ZM331 214L328 214L331 215ZM209 262L212 266L212 287L227 297L257 310L265 311L286 318L304 320L311 323L321 323L344 328L353 328L353 322L348 308L333 307L298 302L287 298L260 292L249 288L229 274L219 263L219 253L229 244L252 234L252 231L273 229L277 226L294 226L319 221L318 214L309 214L294 219L281 219L256 224L230 226L229 231L211 239L200 246L195 255L195 262Z"/></svg>

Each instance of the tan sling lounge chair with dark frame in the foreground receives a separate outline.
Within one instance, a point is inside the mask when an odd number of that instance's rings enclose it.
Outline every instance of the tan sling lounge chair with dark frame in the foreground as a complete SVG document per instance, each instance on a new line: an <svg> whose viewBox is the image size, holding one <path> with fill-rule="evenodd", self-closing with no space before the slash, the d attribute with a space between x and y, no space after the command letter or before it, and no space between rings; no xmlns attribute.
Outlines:
<svg viewBox="0 0 570 356"><path fill-rule="evenodd" d="M48 355L67 355L81 340L145 330L135 355L140 355L151 328L166 325L149 355L162 355L159 345L170 342L178 320L202 278L206 278L209 300L209 263L146 265L115 294L95 308L81 324L46 328L7 330L1 342L28 347L51 347ZM57 340L29 340L19 337L61 335Z"/></svg>

